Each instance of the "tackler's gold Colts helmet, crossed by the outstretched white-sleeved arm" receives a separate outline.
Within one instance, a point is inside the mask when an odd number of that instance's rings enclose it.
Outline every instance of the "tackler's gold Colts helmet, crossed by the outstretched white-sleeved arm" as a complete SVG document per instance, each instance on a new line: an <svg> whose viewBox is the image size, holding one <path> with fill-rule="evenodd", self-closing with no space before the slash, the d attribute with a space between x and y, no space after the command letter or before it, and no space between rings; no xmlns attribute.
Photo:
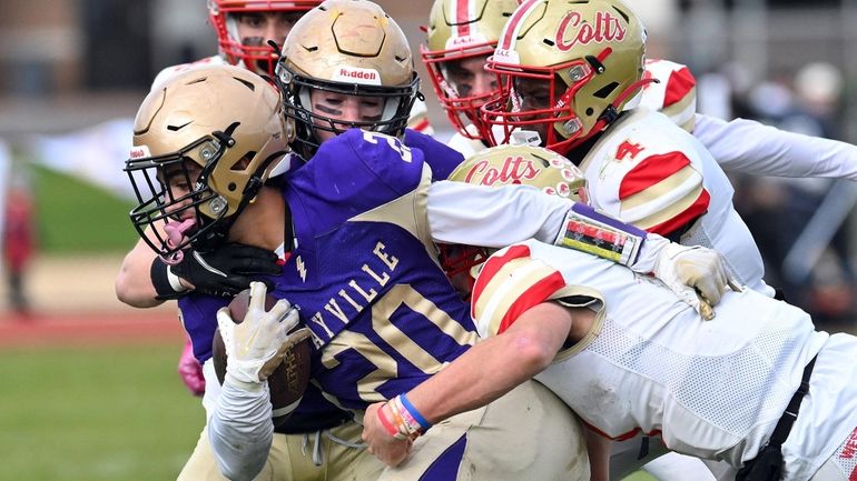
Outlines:
<svg viewBox="0 0 857 481"><path fill-rule="evenodd" d="M532 186L542 192L589 203L583 172L569 159L551 150L533 146L498 146L469 157L449 180L476 186ZM472 288L471 269L487 259L485 248L440 244L441 267L463 298ZM462 279L464 278L464 279Z"/></svg>

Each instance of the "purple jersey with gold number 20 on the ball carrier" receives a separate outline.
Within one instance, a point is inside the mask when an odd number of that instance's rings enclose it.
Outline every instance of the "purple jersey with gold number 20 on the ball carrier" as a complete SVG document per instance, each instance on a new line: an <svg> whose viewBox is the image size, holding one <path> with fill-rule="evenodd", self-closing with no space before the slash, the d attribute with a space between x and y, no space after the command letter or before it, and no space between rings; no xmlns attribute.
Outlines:
<svg viewBox="0 0 857 481"><path fill-rule="evenodd" d="M301 307L318 348L313 375L345 408L410 390L475 341L434 259L431 174L422 149L355 129L324 142L285 188L297 248L274 294Z"/></svg>

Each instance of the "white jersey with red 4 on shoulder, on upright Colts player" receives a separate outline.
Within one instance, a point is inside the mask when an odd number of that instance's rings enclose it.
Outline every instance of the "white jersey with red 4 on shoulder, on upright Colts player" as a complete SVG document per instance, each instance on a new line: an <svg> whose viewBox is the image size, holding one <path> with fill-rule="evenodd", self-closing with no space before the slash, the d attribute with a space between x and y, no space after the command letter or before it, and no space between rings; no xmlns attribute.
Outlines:
<svg viewBox="0 0 857 481"><path fill-rule="evenodd" d="M729 179L693 136L663 114L627 112L580 168L595 209L664 237L697 219L682 244L718 250L741 283L774 294L752 234L732 207Z"/></svg>

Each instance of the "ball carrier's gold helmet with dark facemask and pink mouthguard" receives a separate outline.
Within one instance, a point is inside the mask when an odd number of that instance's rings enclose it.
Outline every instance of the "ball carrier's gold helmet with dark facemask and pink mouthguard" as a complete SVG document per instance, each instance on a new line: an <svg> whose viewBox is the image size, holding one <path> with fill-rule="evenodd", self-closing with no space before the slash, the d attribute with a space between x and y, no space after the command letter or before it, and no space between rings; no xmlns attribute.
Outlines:
<svg viewBox="0 0 857 481"><path fill-rule="evenodd" d="M139 201L130 217L140 237L165 259L191 242L206 250L223 241L288 152L283 122L274 87L240 67L200 67L149 92L125 167ZM146 233L160 222L183 232Z"/></svg>

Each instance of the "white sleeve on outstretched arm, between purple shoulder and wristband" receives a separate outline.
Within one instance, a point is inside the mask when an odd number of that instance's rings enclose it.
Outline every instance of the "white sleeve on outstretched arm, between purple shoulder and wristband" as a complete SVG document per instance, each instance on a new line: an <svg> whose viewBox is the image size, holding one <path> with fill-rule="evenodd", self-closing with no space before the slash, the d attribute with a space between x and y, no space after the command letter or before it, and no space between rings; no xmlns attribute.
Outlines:
<svg viewBox="0 0 857 481"><path fill-rule="evenodd" d="M573 204L530 186L440 181L428 188L428 228L437 242L501 248L535 238L553 243Z"/></svg>

